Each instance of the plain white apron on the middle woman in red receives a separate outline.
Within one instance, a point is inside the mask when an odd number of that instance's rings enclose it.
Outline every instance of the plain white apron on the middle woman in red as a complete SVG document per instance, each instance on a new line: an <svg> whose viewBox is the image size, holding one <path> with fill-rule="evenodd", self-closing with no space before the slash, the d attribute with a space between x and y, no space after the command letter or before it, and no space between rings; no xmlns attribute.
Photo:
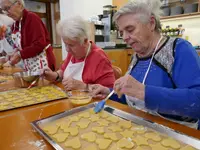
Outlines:
<svg viewBox="0 0 200 150"><path fill-rule="evenodd" d="M67 65L67 67L64 71L63 78L72 77L75 80L83 81L83 79L82 79L83 69L85 66L85 60L90 52L90 49L91 49L91 43L89 43L89 47L87 49L87 54L86 54L83 62L78 62L78 63L73 64L72 57L71 57L69 64Z"/></svg>

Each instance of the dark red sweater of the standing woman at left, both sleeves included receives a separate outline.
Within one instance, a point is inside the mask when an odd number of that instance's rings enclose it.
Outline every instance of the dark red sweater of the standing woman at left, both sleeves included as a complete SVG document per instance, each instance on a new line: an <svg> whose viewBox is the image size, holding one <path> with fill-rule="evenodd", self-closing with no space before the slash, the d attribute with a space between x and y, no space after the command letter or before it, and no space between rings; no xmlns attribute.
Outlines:
<svg viewBox="0 0 200 150"><path fill-rule="evenodd" d="M19 30L19 21L16 27L12 27L13 31ZM21 21L21 58L27 59L40 54L43 49L50 43L49 33L42 20L36 14L23 10L23 18ZM55 70L55 56L50 46L46 50L49 68Z"/></svg>

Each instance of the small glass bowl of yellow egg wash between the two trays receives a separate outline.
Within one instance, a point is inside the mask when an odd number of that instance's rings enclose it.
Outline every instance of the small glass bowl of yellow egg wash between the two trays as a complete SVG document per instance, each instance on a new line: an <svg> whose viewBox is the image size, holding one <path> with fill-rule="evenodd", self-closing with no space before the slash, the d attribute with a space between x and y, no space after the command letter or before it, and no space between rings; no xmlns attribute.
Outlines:
<svg viewBox="0 0 200 150"><path fill-rule="evenodd" d="M87 90L72 90L67 92L67 95L74 106L86 105L92 100L92 96Z"/></svg>

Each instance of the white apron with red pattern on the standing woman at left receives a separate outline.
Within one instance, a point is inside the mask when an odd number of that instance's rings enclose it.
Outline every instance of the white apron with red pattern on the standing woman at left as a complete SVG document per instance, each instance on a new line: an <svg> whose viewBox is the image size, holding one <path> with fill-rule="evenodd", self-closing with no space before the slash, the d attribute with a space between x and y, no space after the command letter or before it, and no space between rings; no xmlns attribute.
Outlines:
<svg viewBox="0 0 200 150"><path fill-rule="evenodd" d="M21 20L19 22L19 31L12 32L12 34L11 34L12 41L14 43L14 45L13 45L14 50L22 50L22 47L21 47ZM15 24L14 24L14 29L15 29ZM50 46L50 44L48 44L39 55L21 60L21 63L22 63L21 67L23 69L25 69L26 71L36 72L36 71L40 71L40 69L43 69L44 67L48 66L45 50L48 49L49 46Z"/></svg>

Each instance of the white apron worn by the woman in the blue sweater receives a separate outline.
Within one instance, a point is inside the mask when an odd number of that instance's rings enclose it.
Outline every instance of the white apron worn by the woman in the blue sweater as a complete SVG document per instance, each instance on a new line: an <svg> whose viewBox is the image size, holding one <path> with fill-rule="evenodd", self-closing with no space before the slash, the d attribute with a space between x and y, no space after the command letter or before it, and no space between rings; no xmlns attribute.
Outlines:
<svg viewBox="0 0 200 150"><path fill-rule="evenodd" d="M145 75L144 75L144 79L143 79L143 81L142 81L142 84L145 84L147 75L148 75L149 70L150 70L150 68L151 68L151 64L152 64L154 55L155 55L156 51L158 50L158 45L160 44L161 40L162 40L162 36L161 36L161 38L159 39L159 41L158 41L158 43L157 43L157 45L156 45L156 48L155 48L155 50L154 50L154 52L153 52L153 55L152 55L152 57L151 57L149 66L148 66L147 71L146 71L146 73L145 73ZM131 66L131 67L129 68L129 70L128 70L128 73L129 73L129 74L130 74L132 68L133 68L133 66ZM188 126L188 127L191 127L191 128L195 128L195 129L198 128L198 122L196 122L196 123L190 123L190 122L177 121L177 120L175 120L175 119L169 119L169 118L163 117L162 115L160 115L160 114L157 113L156 111L151 111L151 110L147 109L147 108L145 107L145 102L144 102L143 100L139 100L139 99L137 99L137 98L135 98L135 97L127 96L127 95L125 95L125 97L126 97L126 102L127 102L127 104L128 104L130 107L133 107L133 108L142 110L142 111L144 111L144 112L148 112L148 113L150 113L150 114L152 114L152 115L160 116L160 117L162 117L162 118L164 118L164 119L166 119L166 120L170 120L170 121L173 121L173 122L176 122L176 123L179 123L179 124L183 124L183 125Z"/></svg>

